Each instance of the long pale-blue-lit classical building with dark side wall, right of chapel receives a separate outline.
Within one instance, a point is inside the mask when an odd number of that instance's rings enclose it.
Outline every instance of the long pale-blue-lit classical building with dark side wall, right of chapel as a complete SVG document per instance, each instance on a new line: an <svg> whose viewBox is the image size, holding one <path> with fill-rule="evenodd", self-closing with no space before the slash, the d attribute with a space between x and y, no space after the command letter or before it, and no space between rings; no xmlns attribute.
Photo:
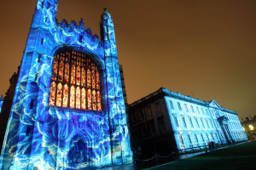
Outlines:
<svg viewBox="0 0 256 170"><path fill-rule="evenodd" d="M214 100L193 99L167 88L129 105L131 147L135 156L169 155L213 141L247 140L235 111Z"/></svg>

